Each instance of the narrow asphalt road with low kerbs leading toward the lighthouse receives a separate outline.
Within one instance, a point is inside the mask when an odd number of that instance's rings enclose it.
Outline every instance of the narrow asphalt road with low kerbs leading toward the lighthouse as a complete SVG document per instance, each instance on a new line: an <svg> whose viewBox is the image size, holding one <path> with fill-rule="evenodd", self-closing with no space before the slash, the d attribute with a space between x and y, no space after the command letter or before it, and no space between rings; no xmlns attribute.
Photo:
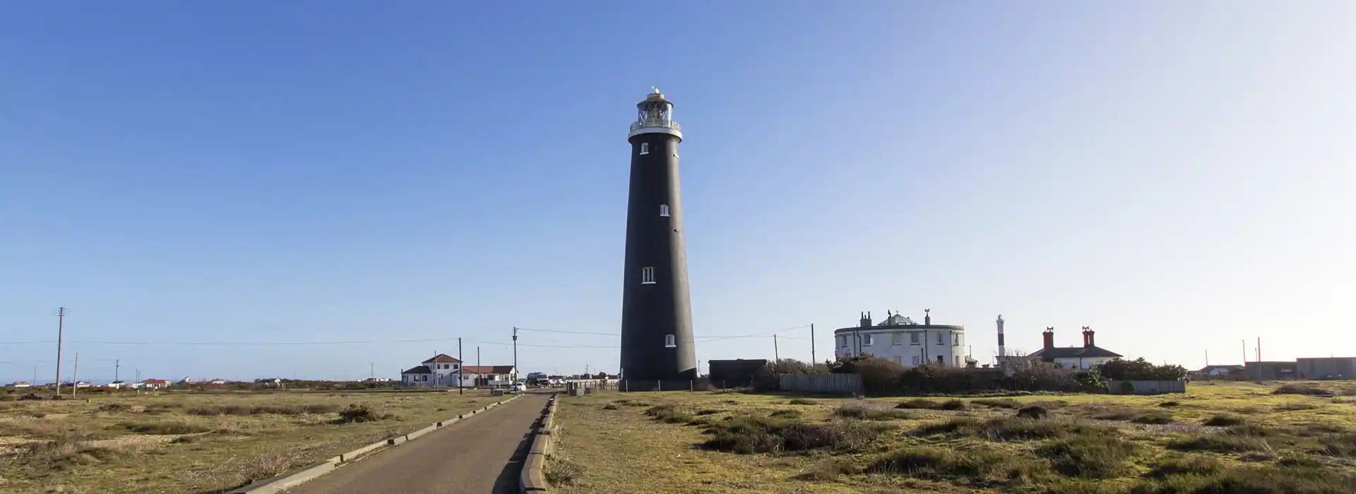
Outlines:
<svg viewBox="0 0 1356 494"><path fill-rule="evenodd" d="M378 452L286 494L510 494L545 394L527 394Z"/></svg>

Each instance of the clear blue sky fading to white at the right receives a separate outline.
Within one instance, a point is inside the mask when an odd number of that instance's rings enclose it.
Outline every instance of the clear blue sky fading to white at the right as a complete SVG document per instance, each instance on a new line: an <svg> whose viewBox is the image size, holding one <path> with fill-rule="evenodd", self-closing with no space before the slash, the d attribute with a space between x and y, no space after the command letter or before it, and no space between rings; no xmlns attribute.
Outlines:
<svg viewBox="0 0 1356 494"><path fill-rule="evenodd" d="M616 333L651 85L700 360L925 307L980 360L999 313L1025 351L1356 355L1352 3L488 5L0 5L0 379L52 379L57 306L91 379ZM298 341L382 342L252 345ZM616 337L519 342L616 371Z"/></svg>

